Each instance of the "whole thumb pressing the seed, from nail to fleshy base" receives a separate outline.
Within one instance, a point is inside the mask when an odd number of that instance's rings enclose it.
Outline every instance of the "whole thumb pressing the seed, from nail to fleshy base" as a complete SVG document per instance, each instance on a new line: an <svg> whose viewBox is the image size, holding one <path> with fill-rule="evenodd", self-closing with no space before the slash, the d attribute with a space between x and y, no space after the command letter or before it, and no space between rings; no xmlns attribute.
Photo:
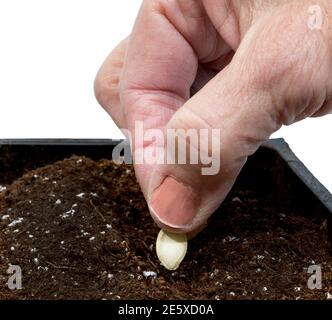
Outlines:
<svg viewBox="0 0 332 320"><path fill-rule="evenodd" d="M285 21L291 21L288 28ZM208 130L208 145L195 140L191 144L184 137L185 148L177 152L212 152L220 170L204 175L202 161L156 166L148 199L161 227L179 233L200 230L227 196L248 156L273 132L325 110L325 105L330 108L330 80L322 72L331 68L326 43L320 34L307 32L303 21L301 15L289 19L288 10L261 18L248 30L231 63L170 119L166 131L194 129L200 135Z"/></svg>

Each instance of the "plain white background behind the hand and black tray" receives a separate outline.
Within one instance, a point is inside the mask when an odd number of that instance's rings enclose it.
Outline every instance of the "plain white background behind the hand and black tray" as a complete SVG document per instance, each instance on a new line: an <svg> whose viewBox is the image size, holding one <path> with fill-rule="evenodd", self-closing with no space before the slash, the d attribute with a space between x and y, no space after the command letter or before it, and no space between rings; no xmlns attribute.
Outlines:
<svg viewBox="0 0 332 320"><path fill-rule="evenodd" d="M0 138L121 138L95 74L133 26L140 0L0 0ZM332 117L282 129L332 192Z"/></svg>

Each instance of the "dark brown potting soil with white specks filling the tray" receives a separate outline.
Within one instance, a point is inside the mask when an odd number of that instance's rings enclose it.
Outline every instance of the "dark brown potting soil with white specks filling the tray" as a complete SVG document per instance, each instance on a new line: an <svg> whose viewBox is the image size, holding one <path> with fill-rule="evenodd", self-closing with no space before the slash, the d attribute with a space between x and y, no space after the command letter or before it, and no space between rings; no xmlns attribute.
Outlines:
<svg viewBox="0 0 332 320"><path fill-rule="evenodd" d="M332 294L330 214L273 151L250 159L176 272L159 264L159 230L132 166L82 154L57 162L48 155L34 170L33 159L22 162L0 180L0 299ZM10 264L22 268L22 290L6 285ZM313 264L323 271L321 289L307 286Z"/></svg>

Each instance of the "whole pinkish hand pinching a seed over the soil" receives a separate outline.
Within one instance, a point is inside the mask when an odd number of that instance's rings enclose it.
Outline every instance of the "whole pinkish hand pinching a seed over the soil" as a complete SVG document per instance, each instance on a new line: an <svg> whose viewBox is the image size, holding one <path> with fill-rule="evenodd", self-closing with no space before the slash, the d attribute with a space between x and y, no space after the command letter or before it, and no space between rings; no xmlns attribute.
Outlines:
<svg viewBox="0 0 332 320"><path fill-rule="evenodd" d="M143 1L132 34L97 75L98 101L132 132L135 121L145 130L221 132L215 176L194 165L135 165L162 228L200 230L273 132L331 112L332 6L314 4L322 14L318 28L308 25L308 0ZM158 139L135 141L134 151L163 147Z"/></svg>

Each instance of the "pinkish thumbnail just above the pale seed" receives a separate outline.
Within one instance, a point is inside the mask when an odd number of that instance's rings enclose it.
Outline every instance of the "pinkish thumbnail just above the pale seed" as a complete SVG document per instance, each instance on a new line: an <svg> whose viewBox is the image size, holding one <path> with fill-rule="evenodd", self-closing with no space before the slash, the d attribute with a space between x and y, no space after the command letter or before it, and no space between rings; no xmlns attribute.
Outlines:
<svg viewBox="0 0 332 320"><path fill-rule="evenodd" d="M198 204L198 195L190 187L167 177L153 192L150 208L161 223L183 228L193 221Z"/></svg>

